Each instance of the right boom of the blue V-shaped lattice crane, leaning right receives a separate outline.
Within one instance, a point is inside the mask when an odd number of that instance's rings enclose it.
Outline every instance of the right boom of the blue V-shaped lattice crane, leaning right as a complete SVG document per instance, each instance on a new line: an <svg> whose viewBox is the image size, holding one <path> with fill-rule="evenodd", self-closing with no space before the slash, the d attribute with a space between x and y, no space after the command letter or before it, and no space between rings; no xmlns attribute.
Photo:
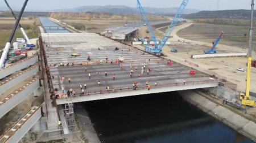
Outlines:
<svg viewBox="0 0 256 143"><path fill-rule="evenodd" d="M170 25L170 28L167 30L166 34L164 35L164 37L163 37L163 39L161 41L161 44L160 44L160 46L158 48L159 49L159 53L162 53L163 46L166 44L168 38L170 38L172 29L174 29L174 27L177 25L181 15L183 14L183 11L184 11L185 7L188 4L188 1L189 0L183 0L183 2L181 3L179 9L177 10L176 15L174 16L174 19L172 20L172 23Z"/></svg>

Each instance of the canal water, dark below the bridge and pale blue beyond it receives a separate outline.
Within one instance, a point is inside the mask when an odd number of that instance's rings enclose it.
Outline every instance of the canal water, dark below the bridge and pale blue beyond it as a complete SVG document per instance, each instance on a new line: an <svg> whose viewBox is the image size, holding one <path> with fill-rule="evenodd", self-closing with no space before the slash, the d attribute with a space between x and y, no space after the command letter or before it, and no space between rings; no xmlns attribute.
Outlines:
<svg viewBox="0 0 256 143"><path fill-rule="evenodd" d="M47 18L40 20L44 26L57 26ZM47 33L68 31L47 29ZM253 142L183 101L176 92L84 102L83 106L105 143Z"/></svg>

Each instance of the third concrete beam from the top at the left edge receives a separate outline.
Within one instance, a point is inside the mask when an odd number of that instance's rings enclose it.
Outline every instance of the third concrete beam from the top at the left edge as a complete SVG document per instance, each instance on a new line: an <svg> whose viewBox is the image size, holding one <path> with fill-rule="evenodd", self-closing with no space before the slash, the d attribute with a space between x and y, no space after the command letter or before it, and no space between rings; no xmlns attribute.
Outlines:
<svg viewBox="0 0 256 143"><path fill-rule="evenodd" d="M35 78L34 80L30 81L30 83L24 85L22 88L19 88L6 98L3 98L0 101L0 118L18 105L18 103L30 96L30 94L39 87L39 79Z"/></svg>

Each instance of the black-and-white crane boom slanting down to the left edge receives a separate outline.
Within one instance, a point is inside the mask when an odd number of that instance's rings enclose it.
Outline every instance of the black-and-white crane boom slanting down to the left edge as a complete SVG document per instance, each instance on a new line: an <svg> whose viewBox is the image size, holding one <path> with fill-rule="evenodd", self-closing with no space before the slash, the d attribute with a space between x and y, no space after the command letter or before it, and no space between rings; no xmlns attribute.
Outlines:
<svg viewBox="0 0 256 143"><path fill-rule="evenodd" d="M16 29L18 27L18 24L19 24L19 21L20 21L20 18L25 10L25 7L27 5L27 2L28 0L26 0L22 6L22 10L20 10L19 12L19 16L18 16L18 19L16 20L15 22L15 25L14 25L14 28L13 28L13 31L11 32L11 35L9 37L9 41L6 43L5 45L5 49L3 49L3 54L1 56L1 59L0 59L0 68L2 67L5 67L5 63L7 61L7 55L8 55L8 52L9 52L9 49L10 49L10 46L11 46L11 41L13 40L13 37L14 37L14 33L16 32Z"/></svg>

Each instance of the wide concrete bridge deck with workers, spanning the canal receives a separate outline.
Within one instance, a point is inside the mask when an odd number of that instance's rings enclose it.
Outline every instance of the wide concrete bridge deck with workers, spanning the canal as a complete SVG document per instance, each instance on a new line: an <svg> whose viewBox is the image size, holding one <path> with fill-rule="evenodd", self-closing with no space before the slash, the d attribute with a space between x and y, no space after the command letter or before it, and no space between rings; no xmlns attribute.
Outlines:
<svg viewBox="0 0 256 143"><path fill-rule="evenodd" d="M57 94L61 94L62 87L65 93L71 88L76 91L76 97L73 97L72 101L57 99L58 104L217 86L217 81L205 73L196 71L194 76L189 75L191 67L175 62L168 66L167 59L143 53L141 50L94 33L42 34L42 37L43 41L49 45L44 47L46 47L51 76L55 77L52 79L53 86L59 89ZM115 47L119 50L114 51ZM72 53L79 53L80 56L72 57ZM90 56L90 61L86 60L88 56ZM119 56L124 58L124 62L115 64L115 59ZM106 58L108 58L107 62ZM96 62L100 63L100 60L102 64L97 65ZM75 66L71 66L73 62ZM59 66L60 63L65 66ZM66 66L67 63L69 66ZM81 63L84 64L81 65ZM146 68L141 74L143 66ZM148 68L151 71L147 74ZM132 77L130 77L130 70L133 70ZM105 76L105 71L108 73L107 76ZM89 72L91 79L88 77ZM139 74L141 75L138 76ZM113 75L115 75L115 80L113 80ZM64 82L61 81L62 76L65 77ZM68 77L71 77L71 83L68 82ZM98 86L98 81L101 83L100 86ZM151 90L147 90L146 81L151 85ZM134 82L138 83L139 90L137 91L133 91ZM156 86L155 82L157 82ZM79 97L80 84L83 89L86 84L85 94L82 97ZM107 86L110 88L109 94L102 94L108 92ZM86 94L89 96L85 96Z"/></svg>

